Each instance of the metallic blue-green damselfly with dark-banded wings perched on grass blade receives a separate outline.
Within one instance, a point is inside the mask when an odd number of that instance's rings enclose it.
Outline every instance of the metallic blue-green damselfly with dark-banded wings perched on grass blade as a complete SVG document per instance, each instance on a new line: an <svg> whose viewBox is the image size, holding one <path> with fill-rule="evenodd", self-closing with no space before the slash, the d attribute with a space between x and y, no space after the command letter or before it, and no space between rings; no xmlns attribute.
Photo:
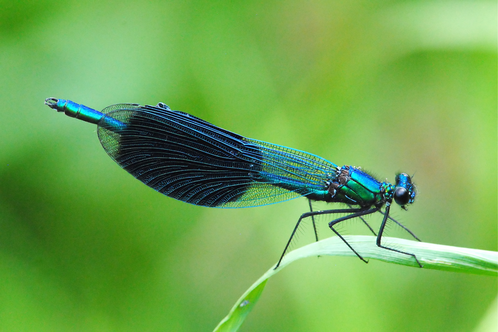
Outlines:
<svg viewBox="0 0 498 332"><path fill-rule="evenodd" d="M47 98L45 104L66 115L97 124L104 150L131 175L166 196L209 207L250 207L304 196L310 212L303 213L275 268L291 243L303 218L348 213L329 222L330 229L364 262L367 262L334 228L341 221L360 217L381 244L392 200L406 209L415 199L415 185L406 173L395 185L380 182L360 167L339 167L316 155L271 143L248 139L219 128L166 104L140 106L117 104L102 112L70 100ZM349 208L313 211L311 201L345 203ZM353 207L356 206L356 207ZM385 206L384 211L381 208ZM378 234L363 216L383 214ZM420 240L419 240L420 241Z"/></svg>

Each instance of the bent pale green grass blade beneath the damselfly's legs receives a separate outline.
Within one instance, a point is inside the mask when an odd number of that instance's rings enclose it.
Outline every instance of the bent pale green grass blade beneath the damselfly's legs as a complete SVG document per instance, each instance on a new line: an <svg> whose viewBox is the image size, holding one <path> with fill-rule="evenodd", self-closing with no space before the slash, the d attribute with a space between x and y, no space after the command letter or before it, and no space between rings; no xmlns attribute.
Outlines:
<svg viewBox="0 0 498 332"><path fill-rule="evenodd" d="M348 236L348 242L365 258L378 259L384 262L418 267L413 257L399 254L375 245L374 236ZM498 275L498 252L445 246L426 242L411 241L392 237L383 237L383 244L388 247L413 253L424 266L424 269L445 270L462 273ZM355 256L356 255L337 236L329 237L308 244L285 255L278 269L273 265L240 297L214 332L235 332L242 325L247 315L263 292L269 277L283 269L293 261L310 256Z"/></svg>

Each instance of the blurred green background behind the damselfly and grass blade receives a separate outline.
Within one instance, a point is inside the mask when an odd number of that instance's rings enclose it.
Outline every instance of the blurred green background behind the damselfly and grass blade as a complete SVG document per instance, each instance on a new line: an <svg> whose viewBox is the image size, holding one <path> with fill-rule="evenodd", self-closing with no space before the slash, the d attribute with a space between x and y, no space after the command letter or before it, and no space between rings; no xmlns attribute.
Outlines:
<svg viewBox="0 0 498 332"><path fill-rule="evenodd" d="M0 331L212 331L308 209L158 194L47 97L165 102L382 180L415 173L395 217L426 242L497 250L496 1L0 7ZM294 247L311 240L308 225ZM241 331L473 331L496 295L494 277L310 258L268 282Z"/></svg>

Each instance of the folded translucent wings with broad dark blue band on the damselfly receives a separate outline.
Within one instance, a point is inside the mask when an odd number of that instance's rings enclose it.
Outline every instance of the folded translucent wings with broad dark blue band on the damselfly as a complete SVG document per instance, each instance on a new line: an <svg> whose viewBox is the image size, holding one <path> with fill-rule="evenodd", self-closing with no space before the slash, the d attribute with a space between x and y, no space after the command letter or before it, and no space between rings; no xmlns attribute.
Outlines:
<svg viewBox="0 0 498 332"><path fill-rule="evenodd" d="M169 108L106 108L98 135L111 158L151 188L212 207L249 207L326 192L337 166L312 154L247 139ZM112 124L124 124L114 127Z"/></svg>

